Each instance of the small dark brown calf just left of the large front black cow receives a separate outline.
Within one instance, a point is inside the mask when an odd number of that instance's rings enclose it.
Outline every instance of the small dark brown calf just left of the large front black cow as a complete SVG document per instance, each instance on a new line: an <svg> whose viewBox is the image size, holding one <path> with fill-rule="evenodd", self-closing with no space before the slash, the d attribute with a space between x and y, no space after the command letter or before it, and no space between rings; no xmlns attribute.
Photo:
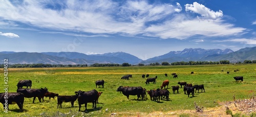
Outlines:
<svg viewBox="0 0 256 117"><path fill-rule="evenodd" d="M74 106L74 102L76 101L76 99L78 98L78 95L76 93L76 95L74 96L58 96L57 98L57 108L60 106L60 108L62 108L62 102L71 102L71 107L75 107Z"/></svg>

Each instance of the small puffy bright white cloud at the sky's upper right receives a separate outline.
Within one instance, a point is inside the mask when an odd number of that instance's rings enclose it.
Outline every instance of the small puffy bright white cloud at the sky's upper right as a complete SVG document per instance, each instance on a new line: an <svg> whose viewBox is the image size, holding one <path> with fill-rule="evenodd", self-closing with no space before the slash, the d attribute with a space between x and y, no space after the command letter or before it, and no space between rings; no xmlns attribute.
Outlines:
<svg viewBox="0 0 256 117"><path fill-rule="evenodd" d="M198 13L206 19L217 19L223 16L223 12L221 10L214 12L209 8L205 7L204 5L198 4L197 2L194 2L193 5L186 4L185 11L192 11Z"/></svg>

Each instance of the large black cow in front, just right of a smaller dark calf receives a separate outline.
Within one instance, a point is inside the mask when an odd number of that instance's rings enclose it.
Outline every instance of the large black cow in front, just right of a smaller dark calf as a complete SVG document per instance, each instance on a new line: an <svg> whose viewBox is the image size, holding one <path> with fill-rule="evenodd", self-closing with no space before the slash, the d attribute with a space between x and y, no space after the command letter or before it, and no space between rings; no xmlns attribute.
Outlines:
<svg viewBox="0 0 256 117"><path fill-rule="evenodd" d="M96 108L96 102L97 102L97 97L98 97L98 91L93 89L93 90L90 90L90 91L81 91L81 90L78 90L78 91L75 91L75 93L77 93L78 95L78 98L77 98L77 101L78 101L78 105L79 105L79 109L78 111L80 111L81 109L81 105L84 104L84 106L86 107L86 111L87 112L87 103L89 102L92 102L93 103L93 108ZM94 106L95 104L95 106Z"/></svg>

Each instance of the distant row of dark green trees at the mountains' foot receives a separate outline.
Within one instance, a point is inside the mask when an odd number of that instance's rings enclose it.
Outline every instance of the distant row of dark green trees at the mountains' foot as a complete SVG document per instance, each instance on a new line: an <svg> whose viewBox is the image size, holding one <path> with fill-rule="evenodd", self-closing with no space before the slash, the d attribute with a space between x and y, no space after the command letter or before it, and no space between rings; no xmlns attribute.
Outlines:
<svg viewBox="0 0 256 117"><path fill-rule="evenodd" d="M221 60L221 61L180 61L180 62L162 62L161 64L159 62L150 63L149 65L202 65L202 64L229 64L230 62L228 60ZM237 62L236 64L248 64L248 63L256 63L256 60L244 60L244 62ZM8 67L87 67L87 64L9 64ZM129 63L95 63L90 65L92 67L101 67L101 66L132 66ZM139 63L138 66L144 66L143 63ZM0 64L0 67L3 68L4 64Z"/></svg>

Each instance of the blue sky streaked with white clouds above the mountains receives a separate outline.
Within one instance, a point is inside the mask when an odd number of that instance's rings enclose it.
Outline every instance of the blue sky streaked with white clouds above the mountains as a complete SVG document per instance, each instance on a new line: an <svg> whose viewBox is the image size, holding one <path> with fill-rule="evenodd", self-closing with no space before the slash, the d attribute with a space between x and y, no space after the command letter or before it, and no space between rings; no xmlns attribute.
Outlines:
<svg viewBox="0 0 256 117"><path fill-rule="evenodd" d="M0 1L0 51L125 52L256 45L256 1Z"/></svg>

